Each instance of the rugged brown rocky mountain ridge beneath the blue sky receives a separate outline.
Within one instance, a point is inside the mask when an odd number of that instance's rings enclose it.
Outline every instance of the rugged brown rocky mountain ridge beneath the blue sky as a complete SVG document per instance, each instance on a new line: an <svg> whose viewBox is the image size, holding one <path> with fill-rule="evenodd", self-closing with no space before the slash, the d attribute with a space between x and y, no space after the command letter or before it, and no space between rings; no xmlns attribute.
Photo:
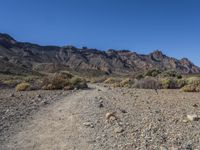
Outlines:
<svg viewBox="0 0 200 150"><path fill-rule="evenodd" d="M178 60L158 50L141 55L129 50L101 51L87 47L40 46L18 42L8 34L0 33L0 72L51 71L63 67L107 74L134 74L154 68L200 73L200 68L187 58Z"/></svg>

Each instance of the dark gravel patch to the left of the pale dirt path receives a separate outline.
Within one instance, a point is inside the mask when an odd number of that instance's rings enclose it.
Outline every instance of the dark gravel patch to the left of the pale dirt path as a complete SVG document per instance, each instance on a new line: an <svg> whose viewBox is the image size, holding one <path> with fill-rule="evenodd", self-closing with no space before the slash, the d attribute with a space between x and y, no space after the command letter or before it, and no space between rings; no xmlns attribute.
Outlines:
<svg viewBox="0 0 200 150"><path fill-rule="evenodd" d="M0 90L0 144L6 136L14 134L15 128L23 126L23 121L32 119L32 115L53 102L69 95L69 91L25 91L14 89Z"/></svg>

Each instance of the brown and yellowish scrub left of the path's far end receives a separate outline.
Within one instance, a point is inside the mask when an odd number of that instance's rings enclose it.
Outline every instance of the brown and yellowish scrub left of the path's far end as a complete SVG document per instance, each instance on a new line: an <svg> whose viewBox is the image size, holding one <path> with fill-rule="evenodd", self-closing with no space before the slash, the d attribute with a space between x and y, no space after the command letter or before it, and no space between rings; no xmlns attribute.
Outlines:
<svg viewBox="0 0 200 150"><path fill-rule="evenodd" d="M73 90L87 88L85 79L75 76L67 71L47 74L43 76L12 76L1 75L2 88L15 88L16 91L27 90Z"/></svg>

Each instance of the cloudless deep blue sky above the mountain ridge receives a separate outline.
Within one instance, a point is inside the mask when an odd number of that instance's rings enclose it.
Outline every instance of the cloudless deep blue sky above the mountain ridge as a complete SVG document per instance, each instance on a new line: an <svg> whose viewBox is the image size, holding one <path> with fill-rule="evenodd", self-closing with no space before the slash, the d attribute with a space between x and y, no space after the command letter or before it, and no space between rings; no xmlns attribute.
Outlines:
<svg viewBox="0 0 200 150"><path fill-rule="evenodd" d="M0 32L41 45L160 49L200 66L200 0L0 0Z"/></svg>

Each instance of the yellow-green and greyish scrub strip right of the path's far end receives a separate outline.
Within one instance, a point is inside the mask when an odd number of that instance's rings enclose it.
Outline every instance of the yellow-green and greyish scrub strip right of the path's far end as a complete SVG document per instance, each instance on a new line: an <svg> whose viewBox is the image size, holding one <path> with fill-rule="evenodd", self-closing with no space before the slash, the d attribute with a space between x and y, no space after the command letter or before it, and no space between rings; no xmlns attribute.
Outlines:
<svg viewBox="0 0 200 150"><path fill-rule="evenodd" d="M199 76L182 76L175 71L149 70L131 78L109 77L104 82L112 87L143 89L182 89L184 92L200 92Z"/></svg>

